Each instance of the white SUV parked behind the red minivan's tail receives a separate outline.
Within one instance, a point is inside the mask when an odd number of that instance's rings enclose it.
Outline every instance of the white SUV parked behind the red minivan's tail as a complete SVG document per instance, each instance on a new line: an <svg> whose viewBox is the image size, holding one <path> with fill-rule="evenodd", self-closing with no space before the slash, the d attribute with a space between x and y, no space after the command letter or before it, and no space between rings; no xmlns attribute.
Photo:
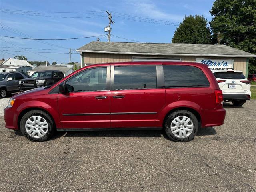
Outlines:
<svg viewBox="0 0 256 192"><path fill-rule="evenodd" d="M242 71L214 70L225 102L232 102L234 106L242 106L251 98L251 82L246 79Z"/></svg>

